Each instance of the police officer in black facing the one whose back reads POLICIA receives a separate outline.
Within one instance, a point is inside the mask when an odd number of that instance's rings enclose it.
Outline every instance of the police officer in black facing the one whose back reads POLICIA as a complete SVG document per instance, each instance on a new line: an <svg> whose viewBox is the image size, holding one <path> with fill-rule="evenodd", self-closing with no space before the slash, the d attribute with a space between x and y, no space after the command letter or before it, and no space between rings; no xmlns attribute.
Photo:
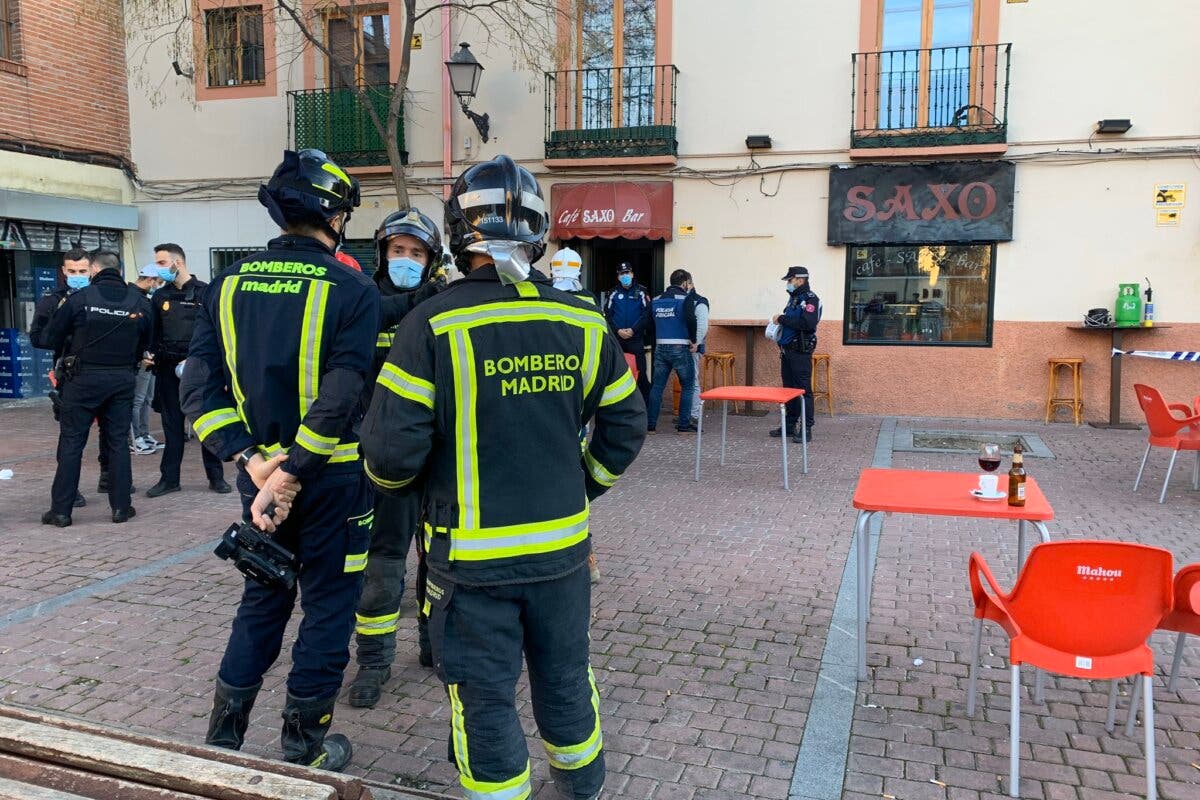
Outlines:
<svg viewBox="0 0 1200 800"><path fill-rule="evenodd" d="M184 411L179 405L179 374L175 367L187 357L187 348L196 330L196 317L200 312L204 289L209 285L187 271L184 248L170 242L154 248L155 264L163 287L155 291L152 351L155 372L155 401L162 413L162 433L167 446L158 462L158 482L146 489L148 498L157 498L179 492L179 468L184 461ZM217 494L228 494L221 461L200 447L204 474L209 488Z"/></svg>

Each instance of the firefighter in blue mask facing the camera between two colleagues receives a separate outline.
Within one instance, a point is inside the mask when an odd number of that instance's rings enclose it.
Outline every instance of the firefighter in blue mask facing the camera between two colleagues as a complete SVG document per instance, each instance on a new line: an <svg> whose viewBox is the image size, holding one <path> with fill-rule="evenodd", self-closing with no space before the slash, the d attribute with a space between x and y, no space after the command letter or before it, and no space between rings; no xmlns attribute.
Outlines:
<svg viewBox="0 0 1200 800"><path fill-rule="evenodd" d="M385 217L376 230L374 282L380 295L380 331L376 342L374 369L364 391L364 409L371 404L374 379L388 359L400 320L416 303L432 297L445 285L443 276L442 231L438 225L416 209L396 211ZM391 679L408 548L420 523L420 486L407 486L394 494L376 494L371 552L362 597L355 613L359 672L347 694L350 705L374 706L379 702L383 685ZM421 610L425 604L425 555L418 541L418 661L424 667L432 667L428 619Z"/></svg>

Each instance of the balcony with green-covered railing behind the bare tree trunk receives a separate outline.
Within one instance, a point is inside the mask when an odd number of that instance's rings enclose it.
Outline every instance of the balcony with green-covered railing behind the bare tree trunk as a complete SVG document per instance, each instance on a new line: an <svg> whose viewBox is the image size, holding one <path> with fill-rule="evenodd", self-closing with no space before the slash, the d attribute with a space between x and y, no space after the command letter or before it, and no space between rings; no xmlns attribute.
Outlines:
<svg viewBox="0 0 1200 800"><path fill-rule="evenodd" d="M367 98L380 120L388 118L391 102L390 86L368 86ZM295 149L316 148L342 167L382 167L388 164L388 149L379 136L371 114L353 89L308 89L289 91L292 133ZM404 150L404 118L401 107L400 130L396 132L401 161L408 163Z"/></svg>

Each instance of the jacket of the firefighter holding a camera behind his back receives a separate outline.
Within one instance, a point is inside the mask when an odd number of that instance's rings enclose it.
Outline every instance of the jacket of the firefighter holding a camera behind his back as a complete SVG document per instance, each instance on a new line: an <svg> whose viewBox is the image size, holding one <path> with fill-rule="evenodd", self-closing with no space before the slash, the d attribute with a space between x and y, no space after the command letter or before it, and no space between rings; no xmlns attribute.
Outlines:
<svg viewBox="0 0 1200 800"><path fill-rule="evenodd" d="M316 239L284 235L204 296L180 387L222 459L256 445L301 481L361 469L355 409L379 332L379 293Z"/></svg>

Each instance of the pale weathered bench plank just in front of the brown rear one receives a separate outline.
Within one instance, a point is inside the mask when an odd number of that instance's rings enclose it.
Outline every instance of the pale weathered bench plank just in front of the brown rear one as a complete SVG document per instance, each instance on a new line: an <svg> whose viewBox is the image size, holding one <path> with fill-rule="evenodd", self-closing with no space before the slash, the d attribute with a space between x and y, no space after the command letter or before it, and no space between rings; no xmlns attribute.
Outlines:
<svg viewBox="0 0 1200 800"><path fill-rule="evenodd" d="M0 726L0 751L214 800L337 800L334 788L312 781L22 720Z"/></svg>

